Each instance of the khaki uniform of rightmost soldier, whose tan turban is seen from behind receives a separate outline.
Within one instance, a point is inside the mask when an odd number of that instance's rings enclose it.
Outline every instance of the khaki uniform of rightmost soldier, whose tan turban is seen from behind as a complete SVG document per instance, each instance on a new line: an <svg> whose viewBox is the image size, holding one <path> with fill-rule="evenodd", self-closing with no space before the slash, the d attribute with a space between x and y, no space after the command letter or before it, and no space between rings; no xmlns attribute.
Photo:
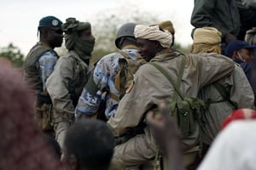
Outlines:
<svg viewBox="0 0 256 170"><path fill-rule="evenodd" d="M204 144L211 144L224 119L236 109L254 108L254 95L247 77L238 65L229 77L218 81L226 90L230 89L230 101L233 105L218 92L214 85L201 89L200 98L205 102L209 101L206 113L203 115L202 139ZM236 106L235 106L236 105Z"/></svg>

